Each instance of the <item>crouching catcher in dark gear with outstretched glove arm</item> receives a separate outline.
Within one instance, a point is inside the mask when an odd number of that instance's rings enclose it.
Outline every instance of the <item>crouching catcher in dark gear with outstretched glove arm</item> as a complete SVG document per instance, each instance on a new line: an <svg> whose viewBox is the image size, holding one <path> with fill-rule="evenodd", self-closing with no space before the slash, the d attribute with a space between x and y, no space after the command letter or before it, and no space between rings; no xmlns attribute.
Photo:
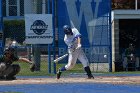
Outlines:
<svg viewBox="0 0 140 93"><path fill-rule="evenodd" d="M27 62L30 65L30 70L35 69L34 63L26 58L19 58L15 55L15 49L9 47L5 49L4 55L0 56L0 80L15 80L15 75L20 72L20 66L18 64L13 64L14 61Z"/></svg>

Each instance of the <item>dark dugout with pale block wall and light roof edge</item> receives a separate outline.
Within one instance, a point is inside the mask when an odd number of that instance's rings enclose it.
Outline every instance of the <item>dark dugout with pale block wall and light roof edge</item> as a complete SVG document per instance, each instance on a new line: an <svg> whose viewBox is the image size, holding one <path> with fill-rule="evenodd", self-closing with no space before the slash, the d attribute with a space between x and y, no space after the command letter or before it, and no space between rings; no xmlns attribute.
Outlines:
<svg viewBox="0 0 140 93"><path fill-rule="evenodd" d="M114 71L122 71L124 50L133 43L140 55L140 10L112 11L112 61ZM138 69L139 70L139 69Z"/></svg>

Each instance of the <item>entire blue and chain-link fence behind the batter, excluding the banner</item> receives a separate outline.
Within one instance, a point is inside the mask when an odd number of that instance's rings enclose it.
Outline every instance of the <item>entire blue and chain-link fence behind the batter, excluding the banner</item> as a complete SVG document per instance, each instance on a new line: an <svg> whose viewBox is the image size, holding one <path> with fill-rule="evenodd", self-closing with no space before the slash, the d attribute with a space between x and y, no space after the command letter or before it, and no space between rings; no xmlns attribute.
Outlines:
<svg viewBox="0 0 140 93"><path fill-rule="evenodd" d="M18 55L34 61L38 66L36 71L43 69L44 74L56 73L60 65L67 63L67 58L58 65L52 63L52 60L67 52L62 26L71 25L70 20L82 34L83 50L91 70L111 71L111 0L3 0L2 4L5 47L9 44L7 40L17 41ZM52 14L52 44L26 44L26 14ZM22 65L26 73L28 68ZM78 67L74 70L79 71Z"/></svg>

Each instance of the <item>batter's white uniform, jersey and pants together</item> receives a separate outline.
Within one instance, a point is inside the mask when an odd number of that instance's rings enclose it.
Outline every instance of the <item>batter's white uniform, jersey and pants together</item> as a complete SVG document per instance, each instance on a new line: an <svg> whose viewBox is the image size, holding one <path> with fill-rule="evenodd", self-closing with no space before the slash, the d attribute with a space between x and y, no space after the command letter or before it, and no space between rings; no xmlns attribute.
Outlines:
<svg viewBox="0 0 140 93"><path fill-rule="evenodd" d="M69 70L74 67L77 59L83 64L83 67L89 66L89 61L82 50L82 48L78 48L78 37L81 37L81 34L76 28L72 28L72 35L64 36L64 42L68 46L68 64L65 66L66 70Z"/></svg>

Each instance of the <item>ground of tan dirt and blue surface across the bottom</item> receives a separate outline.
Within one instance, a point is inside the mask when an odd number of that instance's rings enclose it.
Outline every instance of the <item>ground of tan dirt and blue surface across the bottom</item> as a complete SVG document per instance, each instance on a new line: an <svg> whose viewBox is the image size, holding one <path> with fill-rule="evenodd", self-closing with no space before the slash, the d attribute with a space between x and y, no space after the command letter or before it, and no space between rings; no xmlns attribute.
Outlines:
<svg viewBox="0 0 140 93"><path fill-rule="evenodd" d="M17 76L17 80L0 81L0 93L139 93L139 72L69 73L57 80L54 76Z"/></svg>

